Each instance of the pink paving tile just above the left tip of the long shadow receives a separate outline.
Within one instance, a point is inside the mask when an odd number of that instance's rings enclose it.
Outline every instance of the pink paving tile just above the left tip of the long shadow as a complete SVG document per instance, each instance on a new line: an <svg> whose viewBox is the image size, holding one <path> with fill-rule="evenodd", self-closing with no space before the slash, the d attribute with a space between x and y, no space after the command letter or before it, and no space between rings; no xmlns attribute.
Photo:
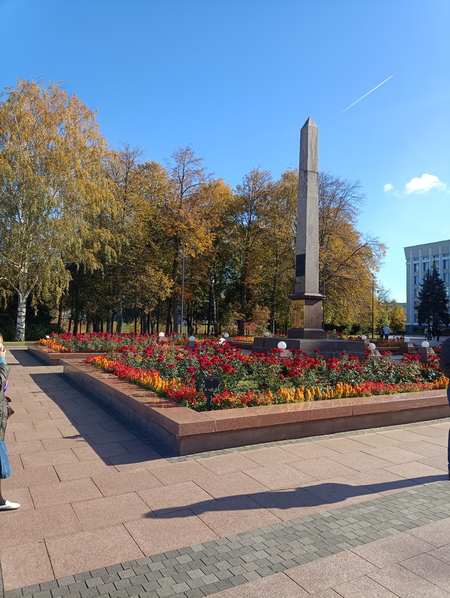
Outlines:
<svg viewBox="0 0 450 598"><path fill-rule="evenodd" d="M139 490L138 496L155 515L183 511L193 505L214 501L211 495L191 481L162 486L153 490Z"/></svg>

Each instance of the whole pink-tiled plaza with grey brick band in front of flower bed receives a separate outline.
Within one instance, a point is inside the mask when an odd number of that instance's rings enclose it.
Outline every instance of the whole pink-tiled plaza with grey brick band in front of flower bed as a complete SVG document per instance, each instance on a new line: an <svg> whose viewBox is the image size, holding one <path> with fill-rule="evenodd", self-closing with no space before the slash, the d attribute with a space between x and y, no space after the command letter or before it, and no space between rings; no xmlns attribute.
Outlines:
<svg viewBox="0 0 450 598"><path fill-rule="evenodd" d="M178 457L6 359L6 598L450 598L449 420Z"/></svg>

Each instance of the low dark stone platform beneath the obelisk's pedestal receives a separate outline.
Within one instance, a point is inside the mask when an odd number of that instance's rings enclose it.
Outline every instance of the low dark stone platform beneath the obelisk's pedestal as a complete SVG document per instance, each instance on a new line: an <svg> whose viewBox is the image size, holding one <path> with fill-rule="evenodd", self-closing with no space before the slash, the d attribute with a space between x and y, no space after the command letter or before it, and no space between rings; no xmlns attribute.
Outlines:
<svg viewBox="0 0 450 598"><path fill-rule="evenodd" d="M314 350L318 349L325 359L332 357L339 359L342 352L354 355L361 359L366 353L366 347L362 340L333 340L327 338L280 338L280 337L256 337L253 340L253 353L264 353L278 347L278 343L284 341L286 349L299 349L305 351L308 357L315 357Z"/></svg>

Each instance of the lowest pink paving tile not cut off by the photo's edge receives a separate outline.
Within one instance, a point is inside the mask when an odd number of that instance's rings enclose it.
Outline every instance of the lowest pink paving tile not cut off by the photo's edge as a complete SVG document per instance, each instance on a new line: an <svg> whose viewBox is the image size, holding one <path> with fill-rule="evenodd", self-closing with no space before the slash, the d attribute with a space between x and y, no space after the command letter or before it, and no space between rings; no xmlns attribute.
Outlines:
<svg viewBox="0 0 450 598"><path fill-rule="evenodd" d="M375 571L376 567L349 550L288 569L285 575L309 593L327 590Z"/></svg>

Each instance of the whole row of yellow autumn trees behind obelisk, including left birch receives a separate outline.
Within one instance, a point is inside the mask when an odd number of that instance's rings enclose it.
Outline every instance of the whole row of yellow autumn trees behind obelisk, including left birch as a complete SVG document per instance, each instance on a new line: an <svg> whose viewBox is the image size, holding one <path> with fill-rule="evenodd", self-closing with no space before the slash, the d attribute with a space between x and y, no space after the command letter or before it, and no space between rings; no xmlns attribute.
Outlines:
<svg viewBox="0 0 450 598"><path fill-rule="evenodd" d="M108 145L96 112L59 85L19 80L0 103L0 291L45 303L72 331L290 326L298 172L260 167L233 190L193 148L166 164ZM369 329L385 246L358 232L359 182L320 173L320 288L329 327Z"/></svg>

